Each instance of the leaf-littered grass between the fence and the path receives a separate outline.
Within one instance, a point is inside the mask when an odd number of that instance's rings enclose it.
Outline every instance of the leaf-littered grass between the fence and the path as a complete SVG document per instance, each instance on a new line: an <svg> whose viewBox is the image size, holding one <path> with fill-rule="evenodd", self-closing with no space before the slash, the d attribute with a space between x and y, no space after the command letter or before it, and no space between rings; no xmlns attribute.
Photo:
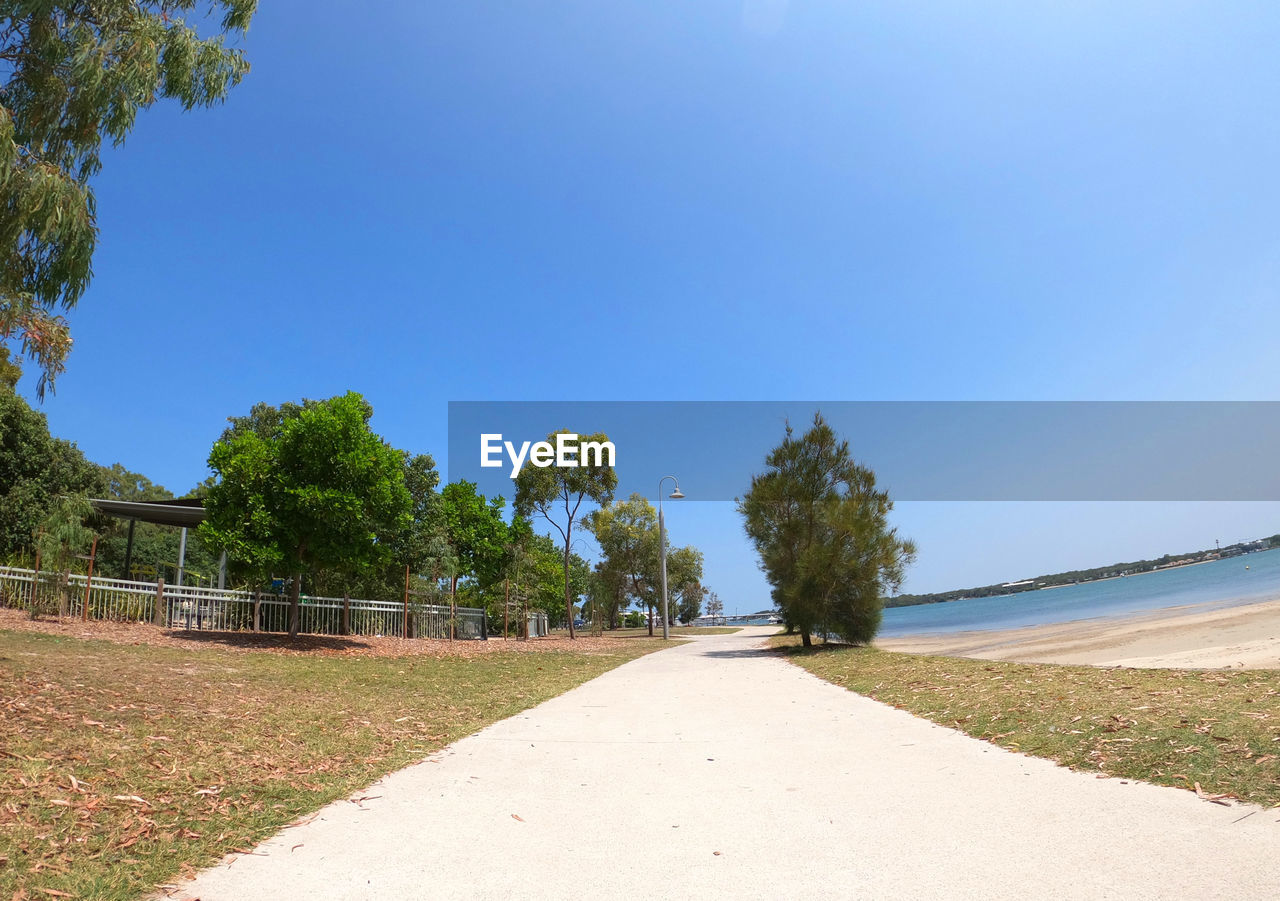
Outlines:
<svg viewBox="0 0 1280 901"><path fill-rule="evenodd" d="M137 897L658 646L321 657L0 632L0 897Z"/></svg>

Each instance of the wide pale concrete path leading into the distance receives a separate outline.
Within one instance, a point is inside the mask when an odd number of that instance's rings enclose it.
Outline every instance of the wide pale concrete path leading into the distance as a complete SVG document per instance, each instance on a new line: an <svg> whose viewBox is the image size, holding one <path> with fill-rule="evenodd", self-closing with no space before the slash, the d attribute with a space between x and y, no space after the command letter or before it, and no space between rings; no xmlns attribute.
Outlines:
<svg viewBox="0 0 1280 901"><path fill-rule="evenodd" d="M628 663L186 896L1280 897L1280 810L1004 751L765 655L768 631Z"/></svg>

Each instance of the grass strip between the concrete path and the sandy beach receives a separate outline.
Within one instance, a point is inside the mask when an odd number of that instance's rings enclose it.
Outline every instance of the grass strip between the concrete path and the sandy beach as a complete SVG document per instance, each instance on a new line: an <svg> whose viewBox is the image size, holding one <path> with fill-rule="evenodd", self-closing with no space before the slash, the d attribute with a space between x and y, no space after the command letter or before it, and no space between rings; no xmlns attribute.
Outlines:
<svg viewBox="0 0 1280 901"><path fill-rule="evenodd" d="M1280 804L1280 672L1066 667L772 642L828 682L1082 770Z"/></svg>

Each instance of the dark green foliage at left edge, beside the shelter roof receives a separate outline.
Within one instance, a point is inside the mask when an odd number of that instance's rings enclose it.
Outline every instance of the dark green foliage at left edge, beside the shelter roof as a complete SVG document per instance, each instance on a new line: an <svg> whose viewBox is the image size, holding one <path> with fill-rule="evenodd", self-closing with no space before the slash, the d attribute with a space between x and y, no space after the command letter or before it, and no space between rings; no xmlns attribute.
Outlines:
<svg viewBox="0 0 1280 901"><path fill-rule="evenodd" d="M99 470L79 448L52 438L42 413L0 387L0 559L33 552L59 497L100 490Z"/></svg>

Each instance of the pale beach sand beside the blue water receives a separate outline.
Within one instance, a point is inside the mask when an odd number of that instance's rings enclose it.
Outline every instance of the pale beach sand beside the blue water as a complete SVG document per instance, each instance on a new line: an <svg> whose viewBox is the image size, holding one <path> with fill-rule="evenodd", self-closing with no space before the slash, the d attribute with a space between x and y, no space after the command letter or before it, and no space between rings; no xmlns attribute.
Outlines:
<svg viewBox="0 0 1280 901"><path fill-rule="evenodd" d="M1280 599L1174 607L1106 619L1000 631L877 639L877 648L988 660L1198 669L1280 668Z"/></svg>

